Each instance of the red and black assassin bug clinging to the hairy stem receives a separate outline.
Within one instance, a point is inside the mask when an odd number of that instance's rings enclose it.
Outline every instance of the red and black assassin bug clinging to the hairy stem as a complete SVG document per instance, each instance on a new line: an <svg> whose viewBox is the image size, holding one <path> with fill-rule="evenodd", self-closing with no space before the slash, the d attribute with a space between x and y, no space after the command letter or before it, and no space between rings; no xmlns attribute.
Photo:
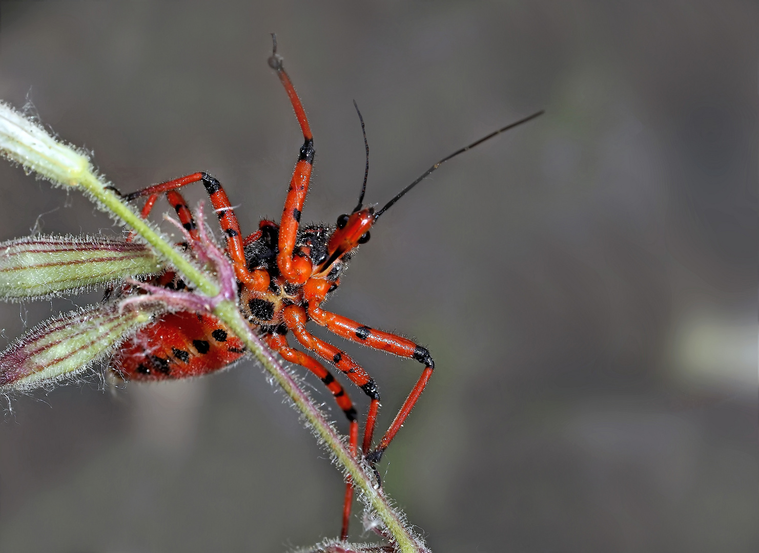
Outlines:
<svg viewBox="0 0 759 553"><path fill-rule="evenodd" d="M359 432L356 410L345 389L323 363L335 366L369 396L370 405L364 426L361 454L374 464L381 459L383 452L411 413L433 373L435 363L426 347L408 338L330 313L323 309L323 303L339 287L342 273L345 272L351 256L359 245L369 240L370 228L390 206L443 162L496 134L530 121L542 112L496 130L441 159L379 211L372 207L365 208L363 204L369 170L369 146L364 132L367 165L357 206L349 215L340 215L336 225L301 226L301 210L308 193L313 166L313 135L301 100L282 66L282 58L276 53L276 38L269 65L277 72L285 87L304 137L279 224L262 220L258 231L243 237L222 185L205 172L156 184L130 193L125 198L135 200L147 196L142 210L143 217L147 217L159 195L165 193L181 224L191 237L197 238L194 218L177 189L187 184L203 183L226 237L226 253L238 278L241 312L272 350L276 350L288 362L304 366L329 388L348 418L349 440L354 454L357 453ZM361 128L364 130L361 112L358 115ZM172 272L156 276L152 283L168 288L184 287L184 283ZM311 321L342 338L414 359L424 365L416 385L376 447L373 448L373 435L379 409L379 389L374 379L348 353L312 335L307 329L307 323ZM309 353L294 349L288 341L288 334ZM234 363L244 354L241 341L231 335L216 317L207 313L183 311L166 314L138 331L137 335L121 346L112 360L112 367L128 379L181 379L215 372ZM348 536L352 496L352 486L348 482L342 517L343 539Z"/></svg>

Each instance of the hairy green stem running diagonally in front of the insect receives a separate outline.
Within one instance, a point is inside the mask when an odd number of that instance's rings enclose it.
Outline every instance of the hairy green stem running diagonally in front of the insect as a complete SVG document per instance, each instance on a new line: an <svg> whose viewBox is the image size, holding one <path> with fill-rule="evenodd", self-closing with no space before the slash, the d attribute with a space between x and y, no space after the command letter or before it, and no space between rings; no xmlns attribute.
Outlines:
<svg viewBox="0 0 759 553"><path fill-rule="evenodd" d="M198 291L209 297L219 294L219 286L206 272L198 269L184 253L164 240L150 224L141 218L137 212L134 212L130 206L122 202L117 194L105 187L94 174L87 171L75 180L80 187L83 187L98 200L104 210L112 212L131 228L134 228L137 234L140 234L153 247L158 256L168 261L178 272L181 272L184 278L194 284ZM351 455L345 441L335 432L335 429L329 424L318 407L313 404L308 394L292 379L291 375L269 351L269 348L261 343L250 325L241 316L238 306L232 301L225 300L216 306L213 313L244 342L250 353L253 353L254 357L266 369L266 372L269 372L277 384L288 394L295 407L298 408L308 425L323 441L326 448L335 456L345 471L351 475L354 485L361 490L364 499L385 523L398 551L403 551L403 553L426 551L423 542L412 535L407 525L402 522L390 506L387 496L383 494L381 489L375 487L373 477L367 474L364 467Z"/></svg>

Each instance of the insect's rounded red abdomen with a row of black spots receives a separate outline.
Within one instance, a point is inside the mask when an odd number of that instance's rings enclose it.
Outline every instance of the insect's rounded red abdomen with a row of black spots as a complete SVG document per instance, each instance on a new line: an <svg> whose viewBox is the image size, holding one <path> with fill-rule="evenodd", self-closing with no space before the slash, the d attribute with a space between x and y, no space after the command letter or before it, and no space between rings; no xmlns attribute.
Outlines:
<svg viewBox="0 0 759 553"><path fill-rule="evenodd" d="M112 360L132 380L183 379L223 369L245 353L245 346L212 315L168 313L141 329Z"/></svg>

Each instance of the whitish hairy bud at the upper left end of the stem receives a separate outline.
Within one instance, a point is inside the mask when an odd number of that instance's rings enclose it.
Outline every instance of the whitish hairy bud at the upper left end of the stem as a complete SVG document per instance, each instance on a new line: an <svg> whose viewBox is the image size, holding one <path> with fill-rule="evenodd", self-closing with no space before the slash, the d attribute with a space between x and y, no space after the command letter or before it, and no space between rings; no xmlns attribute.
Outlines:
<svg viewBox="0 0 759 553"><path fill-rule="evenodd" d="M54 184L76 185L90 172L90 159L84 152L55 140L43 127L2 102L0 154Z"/></svg>

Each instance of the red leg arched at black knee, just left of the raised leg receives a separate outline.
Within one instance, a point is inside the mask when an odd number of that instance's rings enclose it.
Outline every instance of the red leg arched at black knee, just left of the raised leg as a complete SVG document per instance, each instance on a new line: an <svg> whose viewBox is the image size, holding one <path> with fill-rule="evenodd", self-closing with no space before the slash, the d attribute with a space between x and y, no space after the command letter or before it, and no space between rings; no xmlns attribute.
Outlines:
<svg viewBox="0 0 759 553"><path fill-rule="evenodd" d="M237 274L238 280L250 290L261 292L266 291L269 287L269 273L263 270L256 270L254 272L249 272L247 270L244 244L241 237L240 224L235 216L235 210L232 209L231 203L229 203L229 198L221 183L209 174L204 172L193 173L188 174L185 177L173 179L172 181L154 184L143 190L137 190L137 192L127 194L125 199L130 201L140 196L150 196L148 199L148 203L150 203L154 194L165 192L168 196L169 192L198 181L203 181L203 186L206 188L206 192L211 200L211 205L213 205L216 216L219 218L219 225L221 225L222 231L224 231L224 234L227 237L227 251L235 266L235 273ZM177 195L179 196L178 193ZM181 196L179 197L181 198ZM153 203L155 203L155 200L153 200ZM148 212L150 212L150 209L148 209Z"/></svg>

